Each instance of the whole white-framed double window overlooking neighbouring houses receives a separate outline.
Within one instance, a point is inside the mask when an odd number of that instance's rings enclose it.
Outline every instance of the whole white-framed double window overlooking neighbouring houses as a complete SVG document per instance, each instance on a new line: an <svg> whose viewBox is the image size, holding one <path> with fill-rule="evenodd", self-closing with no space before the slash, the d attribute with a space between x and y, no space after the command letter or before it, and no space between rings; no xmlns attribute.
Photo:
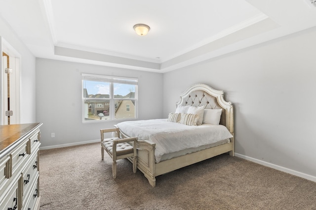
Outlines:
<svg viewBox="0 0 316 210"><path fill-rule="evenodd" d="M82 121L137 119L135 78L82 74Z"/></svg>

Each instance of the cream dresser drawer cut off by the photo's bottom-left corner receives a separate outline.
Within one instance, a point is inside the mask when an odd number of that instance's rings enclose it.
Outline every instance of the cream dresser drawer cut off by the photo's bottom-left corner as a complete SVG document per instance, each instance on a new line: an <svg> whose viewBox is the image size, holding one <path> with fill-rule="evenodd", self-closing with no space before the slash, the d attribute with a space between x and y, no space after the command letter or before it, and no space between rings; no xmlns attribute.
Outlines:
<svg viewBox="0 0 316 210"><path fill-rule="evenodd" d="M12 210L20 209L18 199L18 181L16 181L11 190L4 196L3 200L2 198L0 199L0 210L9 210L10 208L12 208Z"/></svg>

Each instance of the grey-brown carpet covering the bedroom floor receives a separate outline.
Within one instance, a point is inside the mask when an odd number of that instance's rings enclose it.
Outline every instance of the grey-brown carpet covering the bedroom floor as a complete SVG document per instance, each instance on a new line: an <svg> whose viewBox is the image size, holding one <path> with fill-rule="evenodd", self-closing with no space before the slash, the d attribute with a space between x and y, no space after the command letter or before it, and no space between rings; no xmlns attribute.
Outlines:
<svg viewBox="0 0 316 210"><path fill-rule="evenodd" d="M316 210L316 182L219 155L162 175L152 187L100 143L40 150L40 210Z"/></svg>

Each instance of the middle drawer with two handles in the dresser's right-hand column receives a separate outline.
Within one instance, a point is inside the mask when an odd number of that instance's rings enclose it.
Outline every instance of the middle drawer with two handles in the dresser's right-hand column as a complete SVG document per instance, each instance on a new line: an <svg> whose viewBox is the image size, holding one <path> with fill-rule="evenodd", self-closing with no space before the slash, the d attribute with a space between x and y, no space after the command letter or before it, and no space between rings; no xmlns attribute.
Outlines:
<svg viewBox="0 0 316 210"><path fill-rule="evenodd" d="M26 194L27 190L37 178L38 172L38 153L32 156L32 159L28 162L28 166L22 171L23 177L23 195Z"/></svg>

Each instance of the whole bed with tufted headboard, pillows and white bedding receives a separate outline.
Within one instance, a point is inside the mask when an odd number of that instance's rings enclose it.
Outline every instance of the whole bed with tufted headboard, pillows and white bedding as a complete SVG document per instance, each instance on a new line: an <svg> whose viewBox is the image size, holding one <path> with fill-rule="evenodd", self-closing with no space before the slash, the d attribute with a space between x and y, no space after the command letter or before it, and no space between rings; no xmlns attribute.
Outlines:
<svg viewBox="0 0 316 210"><path fill-rule="evenodd" d="M215 111L220 114L213 123ZM137 168L152 186L156 186L157 176L226 152L234 156L233 105L224 99L224 91L205 84L193 85L180 94L168 119L125 121L115 126L124 138L138 137ZM216 137L219 133L223 135ZM172 145L179 147L173 149Z"/></svg>

